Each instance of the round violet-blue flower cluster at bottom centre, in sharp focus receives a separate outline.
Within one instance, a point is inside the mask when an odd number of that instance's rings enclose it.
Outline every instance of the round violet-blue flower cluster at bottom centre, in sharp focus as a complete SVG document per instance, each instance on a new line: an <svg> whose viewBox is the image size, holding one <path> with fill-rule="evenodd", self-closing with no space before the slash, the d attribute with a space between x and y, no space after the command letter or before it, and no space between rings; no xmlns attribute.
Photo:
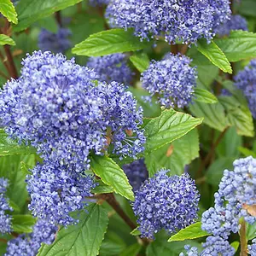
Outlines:
<svg viewBox="0 0 256 256"><path fill-rule="evenodd" d="M161 229L173 233L195 222L199 193L188 174L169 177L160 170L135 193L133 211L143 237Z"/></svg>

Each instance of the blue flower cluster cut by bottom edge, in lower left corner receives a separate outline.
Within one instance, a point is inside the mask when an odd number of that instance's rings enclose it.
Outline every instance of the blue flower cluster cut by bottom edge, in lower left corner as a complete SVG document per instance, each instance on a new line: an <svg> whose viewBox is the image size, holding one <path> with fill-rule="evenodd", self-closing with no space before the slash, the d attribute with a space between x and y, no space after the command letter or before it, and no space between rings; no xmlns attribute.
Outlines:
<svg viewBox="0 0 256 256"><path fill-rule="evenodd" d="M31 234L22 234L8 241L4 256L36 256L42 242L51 244L54 241L56 231L56 226L38 220Z"/></svg>

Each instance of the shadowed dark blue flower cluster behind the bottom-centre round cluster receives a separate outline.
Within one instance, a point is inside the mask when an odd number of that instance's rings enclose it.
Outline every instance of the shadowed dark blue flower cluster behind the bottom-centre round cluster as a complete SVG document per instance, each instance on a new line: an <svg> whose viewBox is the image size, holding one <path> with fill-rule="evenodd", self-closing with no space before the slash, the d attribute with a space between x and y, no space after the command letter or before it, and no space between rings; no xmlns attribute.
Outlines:
<svg viewBox="0 0 256 256"><path fill-rule="evenodd" d="M123 170L135 191L148 178L148 170L143 159L135 160L131 164L124 165Z"/></svg>

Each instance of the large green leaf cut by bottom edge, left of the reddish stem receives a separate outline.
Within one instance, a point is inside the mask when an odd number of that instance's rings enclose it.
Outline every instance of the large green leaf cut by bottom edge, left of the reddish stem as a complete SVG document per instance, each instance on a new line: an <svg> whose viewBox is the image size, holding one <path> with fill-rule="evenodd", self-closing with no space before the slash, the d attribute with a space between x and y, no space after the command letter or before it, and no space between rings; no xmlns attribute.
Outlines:
<svg viewBox="0 0 256 256"><path fill-rule="evenodd" d="M38 256L96 256L108 226L108 212L99 205L79 212L79 224L61 227L51 245L43 245Z"/></svg>

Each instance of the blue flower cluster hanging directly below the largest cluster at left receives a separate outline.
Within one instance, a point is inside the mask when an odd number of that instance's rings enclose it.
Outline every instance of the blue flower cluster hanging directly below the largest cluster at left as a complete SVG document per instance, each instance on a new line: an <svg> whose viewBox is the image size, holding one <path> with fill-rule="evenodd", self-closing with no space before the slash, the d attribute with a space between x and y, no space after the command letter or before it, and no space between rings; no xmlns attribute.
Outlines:
<svg viewBox="0 0 256 256"><path fill-rule="evenodd" d="M81 210L90 189L96 187L90 176L68 168L44 162L32 169L27 177L27 190L31 195L28 205L32 214L47 220L49 224L67 226L76 222L69 212Z"/></svg>

